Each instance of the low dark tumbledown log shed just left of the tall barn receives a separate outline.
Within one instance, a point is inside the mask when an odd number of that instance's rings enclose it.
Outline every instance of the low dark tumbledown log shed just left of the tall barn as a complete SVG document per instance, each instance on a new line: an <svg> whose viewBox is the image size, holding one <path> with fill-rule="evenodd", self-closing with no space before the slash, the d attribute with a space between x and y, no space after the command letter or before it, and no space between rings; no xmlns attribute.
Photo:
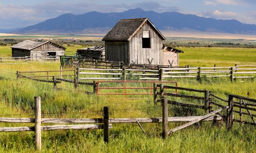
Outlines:
<svg viewBox="0 0 256 153"><path fill-rule="evenodd" d="M105 46L93 46L76 50L77 55L83 59L104 60Z"/></svg>

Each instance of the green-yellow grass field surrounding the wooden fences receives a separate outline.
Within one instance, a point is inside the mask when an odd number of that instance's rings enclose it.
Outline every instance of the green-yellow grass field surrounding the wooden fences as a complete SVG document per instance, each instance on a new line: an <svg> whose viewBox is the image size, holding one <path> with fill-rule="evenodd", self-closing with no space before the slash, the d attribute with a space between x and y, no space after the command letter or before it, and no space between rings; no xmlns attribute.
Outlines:
<svg viewBox="0 0 256 153"><path fill-rule="evenodd" d="M82 46L67 46L67 54L73 55ZM8 46L0 47L0 56L9 56ZM234 64L256 65L255 49L245 48L179 48L180 65L190 66L233 66ZM196 60L195 60L196 59ZM160 117L160 105L154 108L151 97L139 100L113 99L123 96L96 96L86 94L92 87L72 84L52 84L22 79L17 81L15 72L29 70L57 70L59 63L29 63L0 65L0 117L33 118L34 96L41 96L42 118L101 118L104 106L110 107L110 118ZM70 68L68 68L70 69ZM256 98L256 81L207 79L199 83L193 79L178 79L179 87L211 90L226 98L228 94L239 94ZM169 107L169 116L177 108ZM197 111L194 115L203 115ZM6 116L7 115L7 116ZM11 115L11 116L8 116ZM169 123L169 129L181 123ZM0 126L33 126L33 124L0 123ZM146 135L137 124L113 124L110 143L104 144L102 130L90 131L45 131L42 132L42 152L255 152L256 129L250 125L234 123L230 131L225 123L212 125L203 122L178 131L167 140L162 140L159 123L142 124ZM34 133L0 133L0 152L35 152Z"/></svg>

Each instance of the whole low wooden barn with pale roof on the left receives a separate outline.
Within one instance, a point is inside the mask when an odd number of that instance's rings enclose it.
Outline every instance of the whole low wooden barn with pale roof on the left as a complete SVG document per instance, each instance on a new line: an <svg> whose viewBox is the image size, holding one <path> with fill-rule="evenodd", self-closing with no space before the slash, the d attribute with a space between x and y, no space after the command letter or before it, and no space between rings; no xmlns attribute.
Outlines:
<svg viewBox="0 0 256 153"><path fill-rule="evenodd" d="M25 40L17 43L12 48L12 57L30 57L30 58L57 58L65 55L65 47L57 45L50 41L35 42L31 40Z"/></svg>

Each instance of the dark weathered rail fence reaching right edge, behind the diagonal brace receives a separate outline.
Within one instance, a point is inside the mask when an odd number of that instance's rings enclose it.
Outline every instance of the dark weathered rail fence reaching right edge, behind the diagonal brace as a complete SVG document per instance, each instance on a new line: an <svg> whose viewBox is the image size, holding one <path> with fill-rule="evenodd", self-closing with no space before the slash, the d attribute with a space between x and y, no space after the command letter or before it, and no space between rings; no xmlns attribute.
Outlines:
<svg viewBox="0 0 256 153"><path fill-rule="evenodd" d="M208 113L228 106L229 108L227 108L226 114L222 114L222 116L226 117L227 128L232 127L233 121L239 122L240 124L244 123L256 126L254 120L256 116L256 99L233 94L228 95L228 99L224 99L212 94L209 90L164 86L163 84L154 85L154 87L155 105L161 102L163 98L167 98L167 103L170 105L203 109L205 112L208 111ZM159 90L156 87L160 87ZM168 88L177 89L179 91L178 93L183 94L164 91Z"/></svg>

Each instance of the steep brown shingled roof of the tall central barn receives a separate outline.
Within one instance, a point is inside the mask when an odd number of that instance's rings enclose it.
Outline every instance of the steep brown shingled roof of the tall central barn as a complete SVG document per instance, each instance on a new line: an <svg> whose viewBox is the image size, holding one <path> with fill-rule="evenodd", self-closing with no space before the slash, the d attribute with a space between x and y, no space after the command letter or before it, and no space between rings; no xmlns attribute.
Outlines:
<svg viewBox="0 0 256 153"><path fill-rule="evenodd" d="M148 21L153 29L165 40L165 37L148 18L122 19L119 20L111 31L105 35L102 41L129 41L144 22Z"/></svg>

